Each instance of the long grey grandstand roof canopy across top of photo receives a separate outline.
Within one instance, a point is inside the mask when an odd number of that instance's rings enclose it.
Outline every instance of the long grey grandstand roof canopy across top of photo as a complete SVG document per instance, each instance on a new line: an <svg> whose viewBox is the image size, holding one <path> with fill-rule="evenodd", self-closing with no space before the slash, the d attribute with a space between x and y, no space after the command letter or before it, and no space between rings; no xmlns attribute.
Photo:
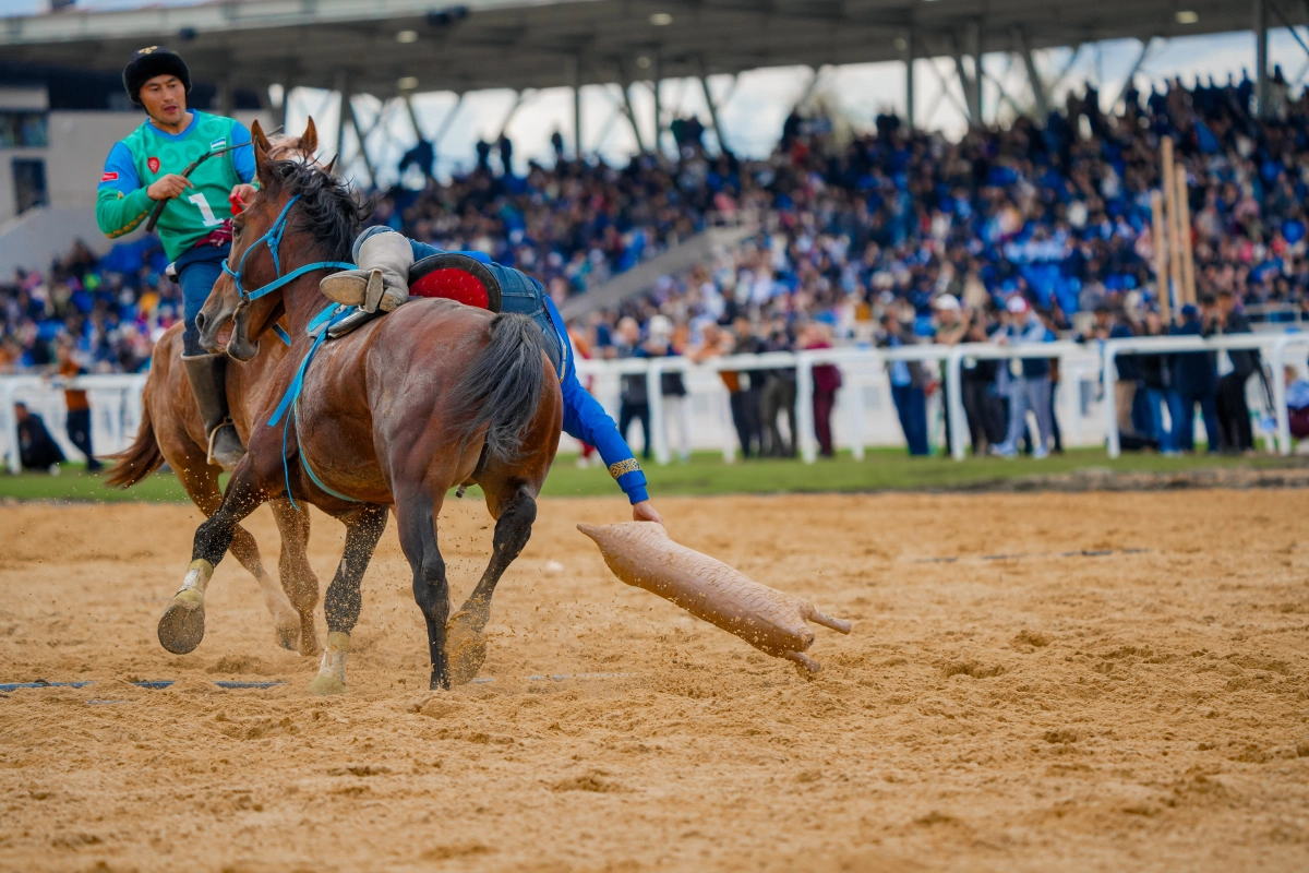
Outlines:
<svg viewBox="0 0 1309 873"><path fill-rule="evenodd" d="M1266 62L1268 26L1309 24L1309 0L442 3L219 0L126 12L65 9L0 18L0 52L8 62L118 72L131 51L165 43L186 54L198 80L219 86L220 109L233 88L251 88L267 99L275 82L384 101L414 90L463 94L613 82L626 93L634 81L694 76L703 82L708 75L762 67L950 58L962 109L980 118L982 84L969 60L980 54L1022 58L1039 111L1047 106L1047 85L1031 60L1035 48L1114 38L1148 46L1155 38L1253 29L1263 34L1258 45ZM907 80L912 107L914 76ZM626 103L618 109L634 120L630 98ZM347 101L342 123L359 132L348 107ZM717 127L712 99L709 110Z"/></svg>

